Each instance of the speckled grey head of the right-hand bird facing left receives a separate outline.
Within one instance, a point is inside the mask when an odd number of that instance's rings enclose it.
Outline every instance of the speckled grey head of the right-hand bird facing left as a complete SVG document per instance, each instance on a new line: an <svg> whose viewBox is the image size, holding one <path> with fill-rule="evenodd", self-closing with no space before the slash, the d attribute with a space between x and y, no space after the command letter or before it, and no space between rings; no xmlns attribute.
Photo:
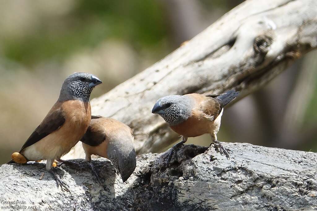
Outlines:
<svg viewBox="0 0 317 211"><path fill-rule="evenodd" d="M174 126L191 116L192 105L191 98L187 96L170 95L160 98L152 113L159 114L170 126Z"/></svg>

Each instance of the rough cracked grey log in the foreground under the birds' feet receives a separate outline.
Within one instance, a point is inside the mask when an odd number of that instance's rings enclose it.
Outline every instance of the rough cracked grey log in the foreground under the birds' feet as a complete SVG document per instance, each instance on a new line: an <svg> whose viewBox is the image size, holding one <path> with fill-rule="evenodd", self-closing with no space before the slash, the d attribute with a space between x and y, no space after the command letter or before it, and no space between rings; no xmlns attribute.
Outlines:
<svg viewBox="0 0 317 211"><path fill-rule="evenodd" d="M93 160L105 178L64 165L70 193L56 188L44 164L0 166L0 199L40 210L301 210L317 208L317 153L224 143L230 159L213 147L186 145L163 164L166 152L138 156L122 183L107 159ZM198 155L197 155L198 154ZM85 166L81 159L74 160ZM42 180L39 177L45 173ZM2 204L0 205L2 206Z"/></svg>

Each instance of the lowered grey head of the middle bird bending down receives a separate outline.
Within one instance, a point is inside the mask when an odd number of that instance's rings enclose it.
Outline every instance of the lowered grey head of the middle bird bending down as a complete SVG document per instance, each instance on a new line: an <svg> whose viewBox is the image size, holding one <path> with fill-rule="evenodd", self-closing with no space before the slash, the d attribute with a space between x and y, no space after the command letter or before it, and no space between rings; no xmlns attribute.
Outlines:
<svg viewBox="0 0 317 211"><path fill-rule="evenodd" d="M119 171L122 181L126 182L136 167L136 152L132 140L122 138L115 142L110 141L107 155L113 166Z"/></svg>

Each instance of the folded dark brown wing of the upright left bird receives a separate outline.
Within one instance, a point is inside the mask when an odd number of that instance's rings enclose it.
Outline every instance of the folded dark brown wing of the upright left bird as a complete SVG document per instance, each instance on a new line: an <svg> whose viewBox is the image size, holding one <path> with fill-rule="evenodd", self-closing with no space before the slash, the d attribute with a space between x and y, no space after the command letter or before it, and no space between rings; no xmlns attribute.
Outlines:
<svg viewBox="0 0 317 211"><path fill-rule="evenodd" d="M59 106L59 103L55 103L53 108L46 115L41 124L36 127L34 132L30 135L28 140L23 144L20 152L28 146L31 146L46 137L50 133L60 128L65 122L63 111Z"/></svg>

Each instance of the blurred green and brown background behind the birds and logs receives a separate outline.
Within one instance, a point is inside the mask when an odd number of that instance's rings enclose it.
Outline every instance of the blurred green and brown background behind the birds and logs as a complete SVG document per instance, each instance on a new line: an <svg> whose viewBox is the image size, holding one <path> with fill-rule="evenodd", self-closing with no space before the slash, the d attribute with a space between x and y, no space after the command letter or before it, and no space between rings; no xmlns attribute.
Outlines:
<svg viewBox="0 0 317 211"><path fill-rule="evenodd" d="M0 1L0 164L42 121L69 74L97 75L104 83L92 97L100 96L242 2ZM227 109L218 139L316 152L316 56Z"/></svg>

